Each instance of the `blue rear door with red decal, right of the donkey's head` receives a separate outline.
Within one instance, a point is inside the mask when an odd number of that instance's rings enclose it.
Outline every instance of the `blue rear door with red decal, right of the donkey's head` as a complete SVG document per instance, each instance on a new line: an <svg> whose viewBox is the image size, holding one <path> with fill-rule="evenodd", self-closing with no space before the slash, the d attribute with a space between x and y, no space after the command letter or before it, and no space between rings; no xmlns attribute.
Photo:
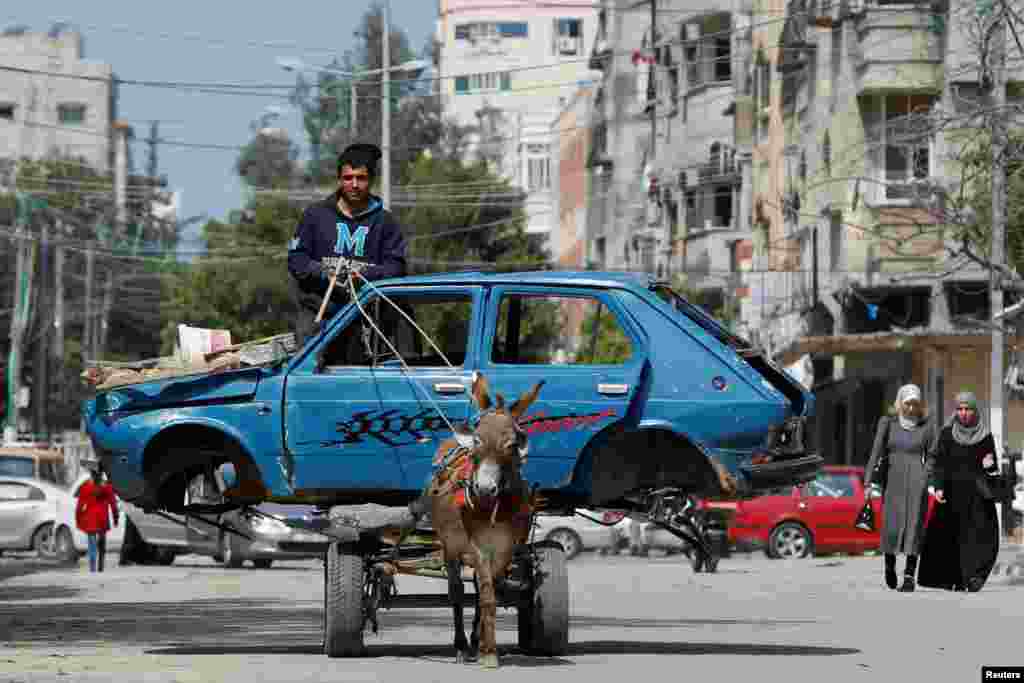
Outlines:
<svg viewBox="0 0 1024 683"><path fill-rule="evenodd" d="M589 288L495 287L487 296L480 369L508 402L545 380L521 424L524 476L565 486L584 445L628 419L646 360L642 333L617 299Z"/></svg>

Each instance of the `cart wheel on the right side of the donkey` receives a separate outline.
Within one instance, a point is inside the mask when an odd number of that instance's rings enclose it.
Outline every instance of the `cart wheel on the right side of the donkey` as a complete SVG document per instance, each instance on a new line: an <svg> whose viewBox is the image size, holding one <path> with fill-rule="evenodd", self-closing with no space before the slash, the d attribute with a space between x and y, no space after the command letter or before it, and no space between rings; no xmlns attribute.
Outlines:
<svg viewBox="0 0 1024 683"><path fill-rule="evenodd" d="M558 656L569 645L569 579L565 552L546 546L527 565L529 588L519 603L519 649L527 654Z"/></svg>

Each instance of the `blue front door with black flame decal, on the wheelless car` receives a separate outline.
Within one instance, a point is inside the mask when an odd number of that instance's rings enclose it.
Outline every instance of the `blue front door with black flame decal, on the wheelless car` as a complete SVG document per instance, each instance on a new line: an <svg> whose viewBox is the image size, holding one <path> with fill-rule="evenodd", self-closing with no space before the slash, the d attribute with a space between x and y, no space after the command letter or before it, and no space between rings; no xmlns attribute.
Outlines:
<svg viewBox="0 0 1024 683"><path fill-rule="evenodd" d="M419 490L451 436L447 423L468 416L481 288L382 294L361 302L372 324L351 306L316 357L289 376L286 442L297 489Z"/></svg>

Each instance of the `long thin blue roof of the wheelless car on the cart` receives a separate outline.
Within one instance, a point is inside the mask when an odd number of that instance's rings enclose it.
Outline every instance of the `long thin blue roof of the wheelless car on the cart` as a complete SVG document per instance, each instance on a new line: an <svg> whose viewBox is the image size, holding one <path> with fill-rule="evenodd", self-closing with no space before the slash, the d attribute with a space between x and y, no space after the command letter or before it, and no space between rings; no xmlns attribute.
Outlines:
<svg viewBox="0 0 1024 683"><path fill-rule="evenodd" d="M482 272L465 270L429 275L407 275L379 280L375 285L560 285L563 287L642 287L655 280L646 272L614 270L519 270Z"/></svg>

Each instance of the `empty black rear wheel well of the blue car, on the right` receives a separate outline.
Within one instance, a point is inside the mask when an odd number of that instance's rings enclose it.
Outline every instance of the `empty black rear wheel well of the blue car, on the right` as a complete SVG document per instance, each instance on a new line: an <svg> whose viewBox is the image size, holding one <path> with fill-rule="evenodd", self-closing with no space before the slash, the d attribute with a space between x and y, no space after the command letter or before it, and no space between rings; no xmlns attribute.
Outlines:
<svg viewBox="0 0 1024 683"><path fill-rule="evenodd" d="M666 451L676 456L671 461L657 457ZM584 451L575 475L590 476L593 505L660 486L708 497L735 493L735 479L724 467L686 437L659 428L600 434Z"/></svg>

